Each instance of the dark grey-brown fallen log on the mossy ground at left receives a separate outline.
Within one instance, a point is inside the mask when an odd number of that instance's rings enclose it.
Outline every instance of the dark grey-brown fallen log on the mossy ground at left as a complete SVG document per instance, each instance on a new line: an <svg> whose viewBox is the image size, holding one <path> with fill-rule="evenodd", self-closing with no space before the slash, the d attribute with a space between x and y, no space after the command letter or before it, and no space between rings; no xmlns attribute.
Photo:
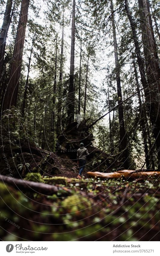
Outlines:
<svg viewBox="0 0 160 256"><path fill-rule="evenodd" d="M5 175L0 175L0 181L12 185L14 188L32 191L34 193L50 195L56 194L59 190L64 190L65 193L67 192L68 194L71 194L71 190L65 187L48 185L41 182L26 181L23 179L7 177Z"/></svg>

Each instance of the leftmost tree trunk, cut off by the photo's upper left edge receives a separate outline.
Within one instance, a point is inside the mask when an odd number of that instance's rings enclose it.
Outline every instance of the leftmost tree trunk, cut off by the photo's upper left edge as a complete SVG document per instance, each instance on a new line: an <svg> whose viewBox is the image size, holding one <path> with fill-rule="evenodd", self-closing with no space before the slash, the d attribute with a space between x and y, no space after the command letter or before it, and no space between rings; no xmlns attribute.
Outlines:
<svg viewBox="0 0 160 256"><path fill-rule="evenodd" d="M6 39L8 35L8 29L11 24L11 9L12 9L13 1L7 0L5 15L3 19L3 24L1 28L1 36L0 36L0 84L3 76L3 68L4 68L4 56L5 56L5 47L6 47ZM1 88L2 93L2 88ZM0 95L1 95L0 93Z"/></svg>

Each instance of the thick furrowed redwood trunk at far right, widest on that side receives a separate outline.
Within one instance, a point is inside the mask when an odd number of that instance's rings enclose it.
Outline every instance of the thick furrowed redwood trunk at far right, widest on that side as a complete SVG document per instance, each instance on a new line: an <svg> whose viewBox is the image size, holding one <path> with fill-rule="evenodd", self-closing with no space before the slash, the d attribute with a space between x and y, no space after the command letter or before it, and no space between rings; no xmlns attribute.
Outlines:
<svg viewBox="0 0 160 256"><path fill-rule="evenodd" d="M152 27L152 19L149 10L148 0L138 0L142 30L143 51L146 64L146 74L148 83L155 81L149 87L146 103L149 110L149 117L153 127L156 148L158 153L158 169L160 168L160 68L158 62L157 47Z"/></svg>

